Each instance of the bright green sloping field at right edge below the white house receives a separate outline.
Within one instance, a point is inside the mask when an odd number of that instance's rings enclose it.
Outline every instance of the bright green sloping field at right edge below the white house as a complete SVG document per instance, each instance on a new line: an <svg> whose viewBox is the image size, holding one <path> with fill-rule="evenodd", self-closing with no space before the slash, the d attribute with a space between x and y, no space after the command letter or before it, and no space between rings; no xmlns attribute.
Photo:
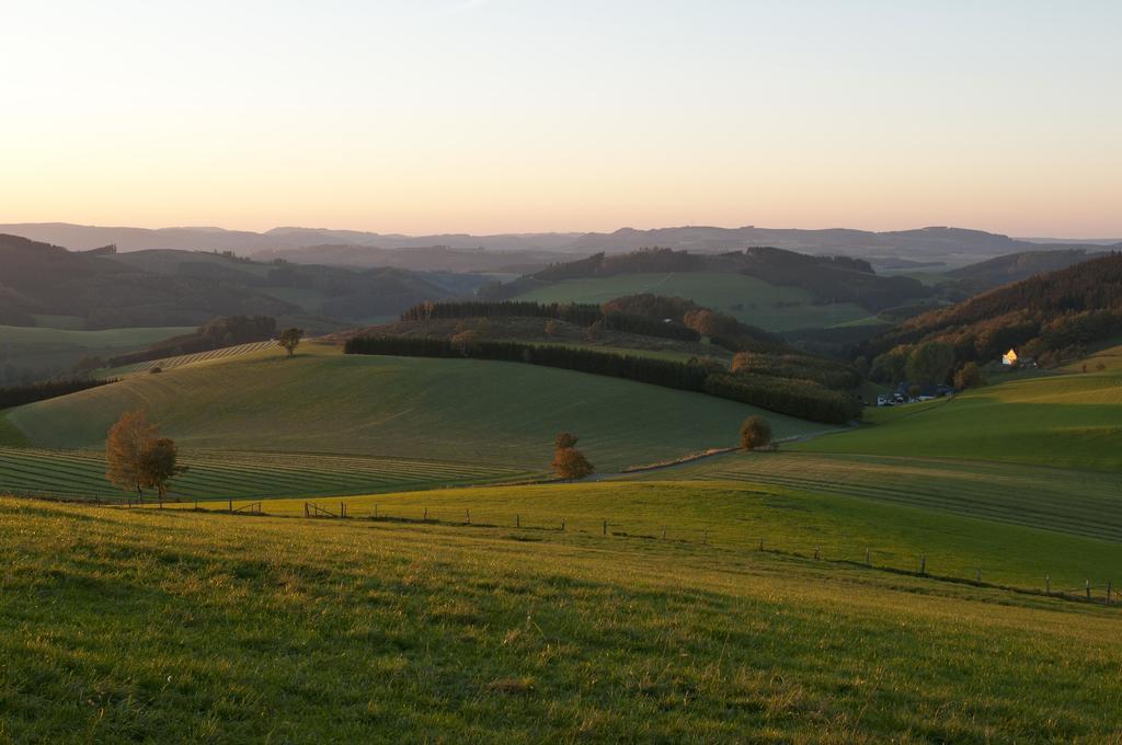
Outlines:
<svg viewBox="0 0 1122 745"><path fill-rule="evenodd" d="M1122 470L1122 368L1014 379L951 399L866 410L867 425L799 445L816 452ZM1095 358L1096 360L1100 358ZM1107 362L1104 362L1106 365Z"/></svg>

